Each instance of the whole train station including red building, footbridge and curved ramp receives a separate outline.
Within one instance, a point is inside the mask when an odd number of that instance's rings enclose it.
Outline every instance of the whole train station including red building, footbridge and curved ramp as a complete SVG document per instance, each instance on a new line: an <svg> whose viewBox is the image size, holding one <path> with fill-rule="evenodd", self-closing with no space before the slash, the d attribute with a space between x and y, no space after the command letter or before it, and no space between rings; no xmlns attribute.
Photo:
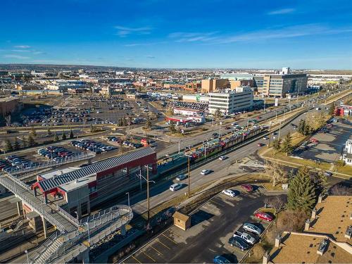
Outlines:
<svg viewBox="0 0 352 264"><path fill-rule="evenodd" d="M82 168L44 172L36 175L33 184L23 182L14 172L4 172L0 184L15 195L12 200L22 216L18 225L26 222L32 232L43 232L47 238L31 252L28 262L89 262L89 249L113 232L125 235L125 226L133 217L129 206L114 205L99 211L99 204L137 187L149 174L156 175L156 169L156 152L146 147L88 162Z"/></svg>

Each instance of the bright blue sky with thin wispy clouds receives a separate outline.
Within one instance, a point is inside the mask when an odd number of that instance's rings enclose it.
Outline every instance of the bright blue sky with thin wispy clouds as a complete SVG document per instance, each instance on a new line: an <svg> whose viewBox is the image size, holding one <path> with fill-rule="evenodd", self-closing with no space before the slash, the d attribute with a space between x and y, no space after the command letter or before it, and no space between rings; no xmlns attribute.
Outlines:
<svg viewBox="0 0 352 264"><path fill-rule="evenodd" d="M352 70L350 0L1 0L0 63Z"/></svg>

